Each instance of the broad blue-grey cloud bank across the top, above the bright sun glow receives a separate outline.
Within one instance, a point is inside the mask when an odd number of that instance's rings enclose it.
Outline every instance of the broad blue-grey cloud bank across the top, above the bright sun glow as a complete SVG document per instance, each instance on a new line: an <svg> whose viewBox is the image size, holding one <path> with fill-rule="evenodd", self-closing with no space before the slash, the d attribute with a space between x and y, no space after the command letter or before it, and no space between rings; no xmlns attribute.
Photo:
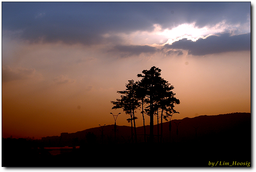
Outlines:
<svg viewBox="0 0 256 172"><path fill-rule="evenodd" d="M243 24L250 8L250 2L2 2L2 30L32 43L89 45L118 41L102 34L150 31L155 23L163 29L191 22L203 27L222 20Z"/></svg>

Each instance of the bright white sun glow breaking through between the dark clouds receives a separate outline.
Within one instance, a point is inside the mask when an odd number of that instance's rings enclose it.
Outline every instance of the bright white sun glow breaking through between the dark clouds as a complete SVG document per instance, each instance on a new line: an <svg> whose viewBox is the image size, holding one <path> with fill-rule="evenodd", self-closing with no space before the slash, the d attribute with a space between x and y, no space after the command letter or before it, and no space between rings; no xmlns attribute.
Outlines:
<svg viewBox="0 0 256 172"><path fill-rule="evenodd" d="M197 27L196 22L184 23L177 27L166 29L163 29L160 24L153 24L152 27L154 28L152 31L138 30L130 34L114 33L114 35L129 38L126 40L130 40L127 42L130 44L135 42L141 42L142 44L171 44L183 38L196 41L199 38L205 39L210 35L217 35L218 33L230 33L230 36L250 33L251 20L248 18L248 22L243 25L240 23L230 24L223 20L213 26L204 26L202 28ZM111 34L106 35L110 36Z"/></svg>

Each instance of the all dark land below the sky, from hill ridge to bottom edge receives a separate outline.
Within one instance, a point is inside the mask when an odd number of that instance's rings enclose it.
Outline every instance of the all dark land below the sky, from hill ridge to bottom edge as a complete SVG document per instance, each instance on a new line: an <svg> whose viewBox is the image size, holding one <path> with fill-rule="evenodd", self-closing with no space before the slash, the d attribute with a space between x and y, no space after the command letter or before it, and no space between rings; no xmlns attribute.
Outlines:
<svg viewBox="0 0 256 172"><path fill-rule="evenodd" d="M178 142L176 125L179 123ZM197 128L197 137L195 128ZM59 140L81 139L79 149L51 156L44 149L25 149L2 153L3 166L46 166L46 167L251 167L251 114L232 113L216 116L198 116L172 120L171 143L169 122L163 123L163 143L130 141L131 130L117 126L117 144L113 143L113 125L104 127L103 144L100 128L70 133ZM149 134L149 126L147 126ZM160 125L159 125L160 129ZM93 132L98 140L87 142L85 134ZM137 128L143 134L143 127ZM155 125L154 134L157 135ZM61 136L59 136L61 137ZM65 140L66 139L66 140ZM156 139L157 140L157 139ZM45 141L47 142L47 141ZM6 146L2 139L2 150ZM21 148L21 147L20 147ZM28 153L28 151L30 153ZM9 151L10 152L10 151ZM213 164L214 163L214 164ZM242 164L242 165L241 165ZM213 168L213 167L211 167Z"/></svg>

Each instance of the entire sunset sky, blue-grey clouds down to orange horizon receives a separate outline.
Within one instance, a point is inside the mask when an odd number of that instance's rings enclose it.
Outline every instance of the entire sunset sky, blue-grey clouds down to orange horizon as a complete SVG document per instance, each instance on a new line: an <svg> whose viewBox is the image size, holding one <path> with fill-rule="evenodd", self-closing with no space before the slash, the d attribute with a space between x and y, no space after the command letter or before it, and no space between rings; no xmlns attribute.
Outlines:
<svg viewBox="0 0 256 172"><path fill-rule="evenodd" d="M130 126L110 101L152 66L172 119L251 112L251 3L2 2L2 137Z"/></svg>

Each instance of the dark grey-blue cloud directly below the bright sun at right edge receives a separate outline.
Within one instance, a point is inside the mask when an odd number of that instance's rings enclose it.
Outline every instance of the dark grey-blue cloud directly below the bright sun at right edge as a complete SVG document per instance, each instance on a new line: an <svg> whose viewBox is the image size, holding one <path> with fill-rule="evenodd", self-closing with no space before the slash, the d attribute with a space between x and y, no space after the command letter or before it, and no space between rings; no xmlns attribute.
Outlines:
<svg viewBox="0 0 256 172"><path fill-rule="evenodd" d="M206 54L215 54L229 51L251 50L251 33L237 36L229 34L212 35L206 39L198 39L193 42L183 38L173 42L171 45L165 44L167 49L187 50L188 54L203 56Z"/></svg>

